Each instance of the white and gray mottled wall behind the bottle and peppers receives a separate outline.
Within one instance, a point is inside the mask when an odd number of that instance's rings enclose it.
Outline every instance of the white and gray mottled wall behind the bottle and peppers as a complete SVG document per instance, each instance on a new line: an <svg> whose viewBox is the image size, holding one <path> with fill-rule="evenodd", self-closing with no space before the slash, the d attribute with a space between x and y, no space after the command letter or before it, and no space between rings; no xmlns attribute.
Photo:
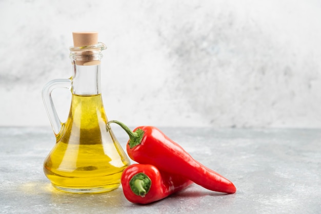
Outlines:
<svg viewBox="0 0 321 214"><path fill-rule="evenodd" d="M0 0L0 125L49 125L72 31L99 31L109 119L128 125L321 127L319 1ZM70 93L53 94L61 119Z"/></svg>

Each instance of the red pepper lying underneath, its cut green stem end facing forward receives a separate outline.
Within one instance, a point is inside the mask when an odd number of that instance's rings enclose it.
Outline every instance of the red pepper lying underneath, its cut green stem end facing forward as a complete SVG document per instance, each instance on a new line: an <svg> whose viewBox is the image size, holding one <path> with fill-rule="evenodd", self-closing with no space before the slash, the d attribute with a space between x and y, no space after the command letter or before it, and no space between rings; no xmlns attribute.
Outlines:
<svg viewBox="0 0 321 214"><path fill-rule="evenodd" d="M132 164L122 174L125 197L132 203L148 204L184 189L193 182L179 175L160 172L150 164Z"/></svg>

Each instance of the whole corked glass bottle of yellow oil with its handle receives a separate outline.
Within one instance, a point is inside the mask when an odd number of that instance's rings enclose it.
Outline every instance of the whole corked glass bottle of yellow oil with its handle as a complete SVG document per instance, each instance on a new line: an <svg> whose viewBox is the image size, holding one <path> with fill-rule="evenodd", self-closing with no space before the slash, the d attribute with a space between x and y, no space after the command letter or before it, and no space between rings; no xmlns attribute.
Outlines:
<svg viewBox="0 0 321 214"><path fill-rule="evenodd" d="M67 192L104 192L121 184L123 170L130 164L108 122L101 95L101 58L106 46L97 42L96 32L74 32L70 48L73 75L55 79L43 89L43 100L56 137L44 161L44 173L52 185ZM51 92L71 90L71 106L62 123Z"/></svg>

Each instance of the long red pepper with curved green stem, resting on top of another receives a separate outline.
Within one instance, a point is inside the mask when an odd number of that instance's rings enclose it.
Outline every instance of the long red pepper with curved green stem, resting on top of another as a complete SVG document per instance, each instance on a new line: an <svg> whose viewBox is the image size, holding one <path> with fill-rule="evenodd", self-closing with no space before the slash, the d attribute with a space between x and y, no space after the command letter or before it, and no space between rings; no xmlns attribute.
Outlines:
<svg viewBox="0 0 321 214"><path fill-rule="evenodd" d="M212 169L194 160L182 146L153 126L139 126L133 132L122 122L117 123L129 135L128 156L142 164L152 164L159 170L188 178L209 190L234 193L234 184Z"/></svg>

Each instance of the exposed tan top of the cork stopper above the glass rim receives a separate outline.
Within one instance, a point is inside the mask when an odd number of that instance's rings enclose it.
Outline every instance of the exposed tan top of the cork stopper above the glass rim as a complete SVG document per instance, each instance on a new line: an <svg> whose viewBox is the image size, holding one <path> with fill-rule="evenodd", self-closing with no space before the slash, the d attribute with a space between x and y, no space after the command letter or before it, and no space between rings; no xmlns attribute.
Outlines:
<svg viewBox="0 0 321 214"><path fill-rule="evenodd" d="M98 32L72 32L73 47L92 46L98 43Z"/></svg>

